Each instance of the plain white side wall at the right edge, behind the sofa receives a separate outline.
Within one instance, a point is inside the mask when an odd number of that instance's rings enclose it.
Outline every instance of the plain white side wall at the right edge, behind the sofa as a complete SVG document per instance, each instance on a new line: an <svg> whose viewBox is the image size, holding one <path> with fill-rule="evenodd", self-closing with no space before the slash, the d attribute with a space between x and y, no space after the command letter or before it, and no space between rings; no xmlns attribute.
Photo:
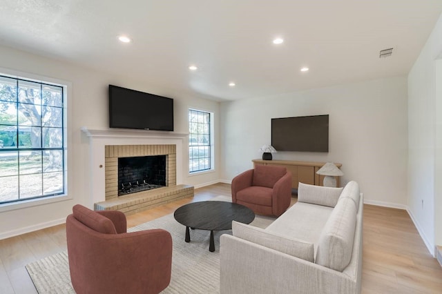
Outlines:
<svg viewBox="0 0 442 294"><path fill-rule="evenodd" d="M408 206L432 254L442 244L441 54L442 16L408 75Z"/></svg>

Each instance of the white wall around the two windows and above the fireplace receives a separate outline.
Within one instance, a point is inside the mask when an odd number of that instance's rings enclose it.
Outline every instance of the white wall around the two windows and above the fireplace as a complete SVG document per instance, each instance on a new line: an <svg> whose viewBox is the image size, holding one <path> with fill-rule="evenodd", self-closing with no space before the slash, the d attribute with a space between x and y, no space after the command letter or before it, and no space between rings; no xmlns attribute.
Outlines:
<svg viewBox="0 0 442 294"><path fill-rule="evenodd" d="M218 102L204 99L204 97L191 97L173 89L157 88L149 84L149 77L131 79L125 72L122 72L121 76L113 76L106 72L97 72L72 63L39 57L6 47L0 47L0 66L3 68L3 73L23 72L25 77L27 73L30 73L50 79L62 79L72 85L71 96L68 97L72 114L68 126L68 135L71 138L68 151L70 155L68 173L72 179L68 183L68 195L72 199L17 210L0 210L0 239L64 222L74 204L88 203L87 199L90 197L88 195L90 187L89 141L80 128L87 126L90 129L108 129L108 84L174 98L176 133L189 133L188 108L214 112L215 133L219 133ZM219 166L218 141L218 137L215 137L215 166ZM188 148L184 148L183 152L183 160L188 162ZM184 184L195 186L217 182L220 178L218 170L189 177L189 165L185 163L183 170L177 172L182 173Z"/></svg>

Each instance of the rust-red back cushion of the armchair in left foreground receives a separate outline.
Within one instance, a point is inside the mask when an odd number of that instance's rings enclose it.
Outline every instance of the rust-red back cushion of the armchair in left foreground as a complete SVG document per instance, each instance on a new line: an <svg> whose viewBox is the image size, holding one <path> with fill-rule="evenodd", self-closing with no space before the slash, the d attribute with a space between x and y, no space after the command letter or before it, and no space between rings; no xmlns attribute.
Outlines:
<svg viewBox="0 0 442 294"><path fill-rule="evenodd" d="M111 219L108 219L103 215L99 215L95 211L90 210L89 208L86 208L79 204L75 205L72 210L75 219L77 219L88 228L104 234L117 233L117 230L115 229L115 226Z"/></svg>

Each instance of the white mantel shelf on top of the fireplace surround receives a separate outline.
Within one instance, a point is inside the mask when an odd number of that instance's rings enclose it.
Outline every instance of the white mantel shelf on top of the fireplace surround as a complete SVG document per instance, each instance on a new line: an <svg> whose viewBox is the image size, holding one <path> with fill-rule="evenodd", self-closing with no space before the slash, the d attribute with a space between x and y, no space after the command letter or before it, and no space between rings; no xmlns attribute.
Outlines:
<svg viewBox="0 0 442 294"><path fill-rule="evenodd" d="M189 134L161 132L153 130L90 130L85 126L81 131L92 138L170 138L179 139L188 137Z"/></svg>

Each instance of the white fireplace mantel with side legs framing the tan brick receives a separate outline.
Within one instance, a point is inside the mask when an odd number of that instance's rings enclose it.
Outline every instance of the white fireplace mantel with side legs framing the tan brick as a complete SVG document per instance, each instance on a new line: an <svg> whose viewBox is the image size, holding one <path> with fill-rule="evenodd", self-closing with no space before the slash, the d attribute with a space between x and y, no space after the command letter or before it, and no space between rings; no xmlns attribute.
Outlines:
<svg viewBox="0 0 442 294"><path fill-rule="evenodd" d="M89 141L90 163L90 208L97 202L105 201L105 146L115 145L175 145L176 184L182 184L184 146L189 134L153 130L93 130L82 127L81 131Z"/></svg>

